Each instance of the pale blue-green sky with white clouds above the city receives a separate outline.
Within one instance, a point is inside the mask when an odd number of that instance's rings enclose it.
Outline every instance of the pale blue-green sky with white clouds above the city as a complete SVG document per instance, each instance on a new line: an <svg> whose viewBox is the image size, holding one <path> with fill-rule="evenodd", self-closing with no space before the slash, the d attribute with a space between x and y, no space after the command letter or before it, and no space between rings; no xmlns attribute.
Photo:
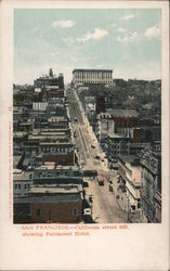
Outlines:
<svg viewBox="0 0 170 271"><path fill-rule="evenodd" d="M161 78L161 11L15 10L14 82L74 68L112 68L114 78Z"/></svg>

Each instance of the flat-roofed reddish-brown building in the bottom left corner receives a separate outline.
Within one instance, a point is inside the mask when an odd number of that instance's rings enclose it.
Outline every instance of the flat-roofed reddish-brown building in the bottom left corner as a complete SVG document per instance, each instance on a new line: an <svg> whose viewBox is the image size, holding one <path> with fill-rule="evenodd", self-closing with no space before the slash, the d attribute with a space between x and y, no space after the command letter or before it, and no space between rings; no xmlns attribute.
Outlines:
<svg viewBox="0 0 170 271"><path fill-rule="evenodd" d="M36 184L29 196L14 198L14 223L79 223L82 185Z"/></svg>

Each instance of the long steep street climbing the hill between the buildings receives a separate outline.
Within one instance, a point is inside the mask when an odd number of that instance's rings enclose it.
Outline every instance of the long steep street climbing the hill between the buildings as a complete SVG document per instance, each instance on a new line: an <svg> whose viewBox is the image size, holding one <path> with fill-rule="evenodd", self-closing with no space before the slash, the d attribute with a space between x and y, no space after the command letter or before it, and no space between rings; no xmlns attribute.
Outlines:
<svg viewBox="0 0 170 271"><path fill-rule="evenodd" d="M113 185L117 182L117 172L108 170L105 154L89 125L75 89L67 89L67 100L80 165L83 169L97 170L104 179L104 185L99 185L96 179L86 178L89 184L86 188L86 196L87 198L91 195L93 197L93 220L100 223L127 222L127 212L119 207L114 191L108 190L108 181L112 180Z"/></svg>

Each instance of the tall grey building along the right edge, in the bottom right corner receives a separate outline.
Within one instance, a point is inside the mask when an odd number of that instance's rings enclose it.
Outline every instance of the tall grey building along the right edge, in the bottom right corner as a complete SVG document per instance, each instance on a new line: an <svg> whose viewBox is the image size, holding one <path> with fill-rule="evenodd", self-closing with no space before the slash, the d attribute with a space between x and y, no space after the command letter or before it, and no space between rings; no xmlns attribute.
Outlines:
<svg viewBox="0 0 170 271"><path fill-rule="evenodd" d="M156 143L142 152L141 210L143 222L161 222L161 151Z"/></svg>

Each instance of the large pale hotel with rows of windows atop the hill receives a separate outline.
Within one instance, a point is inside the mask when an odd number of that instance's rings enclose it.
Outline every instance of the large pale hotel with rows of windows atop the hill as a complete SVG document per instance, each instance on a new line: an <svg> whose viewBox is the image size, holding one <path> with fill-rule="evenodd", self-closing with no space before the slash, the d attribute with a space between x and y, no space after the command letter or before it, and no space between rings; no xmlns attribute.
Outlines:
<svg viewBox="0 0 170 271"><path fill-rule="evenodd" d="M113 69L74 69L73 83L113 83Z"/></svg>

